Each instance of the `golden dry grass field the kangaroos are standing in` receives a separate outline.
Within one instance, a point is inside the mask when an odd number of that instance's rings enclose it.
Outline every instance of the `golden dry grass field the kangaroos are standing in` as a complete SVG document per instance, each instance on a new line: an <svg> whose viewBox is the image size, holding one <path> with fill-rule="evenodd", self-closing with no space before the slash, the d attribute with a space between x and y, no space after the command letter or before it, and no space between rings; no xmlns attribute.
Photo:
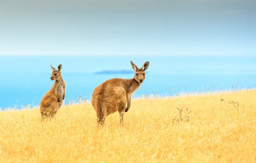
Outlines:
<svg viewBox="0 0 256 163"><path fill-rule="evenodd" d="M255 163L256 91L135 99L123 126L116 112L102 129L90 103L47 122L39 108L0 112L0 162L23 161Z"/></svg>

